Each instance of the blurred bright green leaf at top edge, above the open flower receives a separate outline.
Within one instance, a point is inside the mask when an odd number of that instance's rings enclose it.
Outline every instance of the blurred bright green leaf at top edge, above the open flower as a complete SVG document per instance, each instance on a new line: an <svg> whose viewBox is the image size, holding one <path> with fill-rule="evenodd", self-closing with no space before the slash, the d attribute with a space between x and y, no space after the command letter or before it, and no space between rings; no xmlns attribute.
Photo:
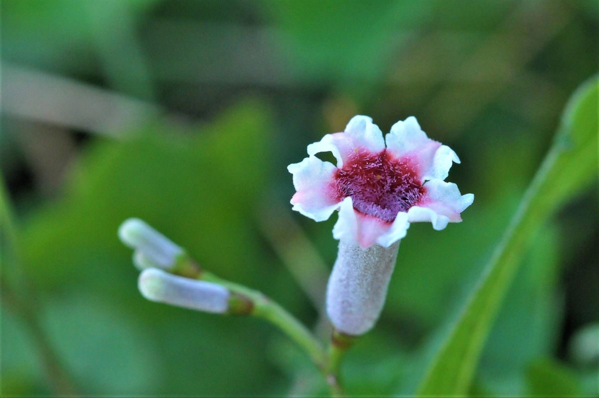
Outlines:
<svg viewBox="0 0 599 398"><path fill-rule="evenodd" d="M384 76L392 54L408 38L398 28L418 26L433 5L364 0L264 4L284 32L277 40L296 77L331 81L353 92Z"/></svg>

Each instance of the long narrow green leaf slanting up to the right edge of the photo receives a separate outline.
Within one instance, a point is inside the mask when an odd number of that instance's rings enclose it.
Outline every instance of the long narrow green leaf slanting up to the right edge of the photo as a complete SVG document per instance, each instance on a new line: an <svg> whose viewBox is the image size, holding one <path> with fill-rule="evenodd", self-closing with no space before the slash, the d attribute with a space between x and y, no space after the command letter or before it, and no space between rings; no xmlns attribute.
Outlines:
<svg viewBox="0 0 599 398"><path fill-rule="evenodd" d="M429 364L418 394L468 393L486 337L531 236L553 210L596 178L598 94L599 80L594 77L568 102L549 153L479 283Z"/></svg>

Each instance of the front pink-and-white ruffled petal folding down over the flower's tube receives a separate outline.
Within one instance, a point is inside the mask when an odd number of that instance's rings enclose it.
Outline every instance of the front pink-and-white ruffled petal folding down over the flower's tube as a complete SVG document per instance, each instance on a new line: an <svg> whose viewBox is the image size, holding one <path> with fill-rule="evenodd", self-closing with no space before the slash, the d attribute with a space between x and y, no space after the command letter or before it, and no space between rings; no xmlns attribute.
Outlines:
<svg viewBox="0 0 599 398"><path fill-rule="evenodd" d="M406 236L409 227L407 213L398 213L392 223L364 215L353 208L351 197L345 198L339 208L339 218L333 227L333 237L355 243L367 249L375 243L388 248Z"/></svg>

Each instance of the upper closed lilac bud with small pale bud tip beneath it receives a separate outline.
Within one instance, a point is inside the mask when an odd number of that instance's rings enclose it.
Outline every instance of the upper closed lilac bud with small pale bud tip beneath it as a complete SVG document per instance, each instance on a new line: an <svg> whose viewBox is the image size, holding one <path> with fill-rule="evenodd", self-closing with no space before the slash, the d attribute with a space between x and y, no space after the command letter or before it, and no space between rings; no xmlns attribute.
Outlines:
<svg viewBox="0 0 599 398"><path fill-rule="evenodd" d="M119 237L135 250L134 264L140 269L171 270L183 249L138 218L129 218L119 227Z"/></svg>

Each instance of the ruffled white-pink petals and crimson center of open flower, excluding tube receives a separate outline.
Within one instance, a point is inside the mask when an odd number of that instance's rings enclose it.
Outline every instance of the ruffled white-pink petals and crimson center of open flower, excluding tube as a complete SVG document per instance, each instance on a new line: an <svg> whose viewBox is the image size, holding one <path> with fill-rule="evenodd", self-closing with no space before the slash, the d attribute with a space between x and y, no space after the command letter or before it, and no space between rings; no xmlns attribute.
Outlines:
<svg viewBox="0 0 599 398"><path fill-rule="evenodd" d="M291 164L293 209L315 221L339 210L335 239L388 248L406 236L410 222L429 221L435 230L462 221L473 194L461 195L445 182L459 158L448 146L428 138L413 116L395 123L383 138L367 116L354 116L344 132L308 145L308 157ZM317 158L332 152L337 164Z"/></svg>

